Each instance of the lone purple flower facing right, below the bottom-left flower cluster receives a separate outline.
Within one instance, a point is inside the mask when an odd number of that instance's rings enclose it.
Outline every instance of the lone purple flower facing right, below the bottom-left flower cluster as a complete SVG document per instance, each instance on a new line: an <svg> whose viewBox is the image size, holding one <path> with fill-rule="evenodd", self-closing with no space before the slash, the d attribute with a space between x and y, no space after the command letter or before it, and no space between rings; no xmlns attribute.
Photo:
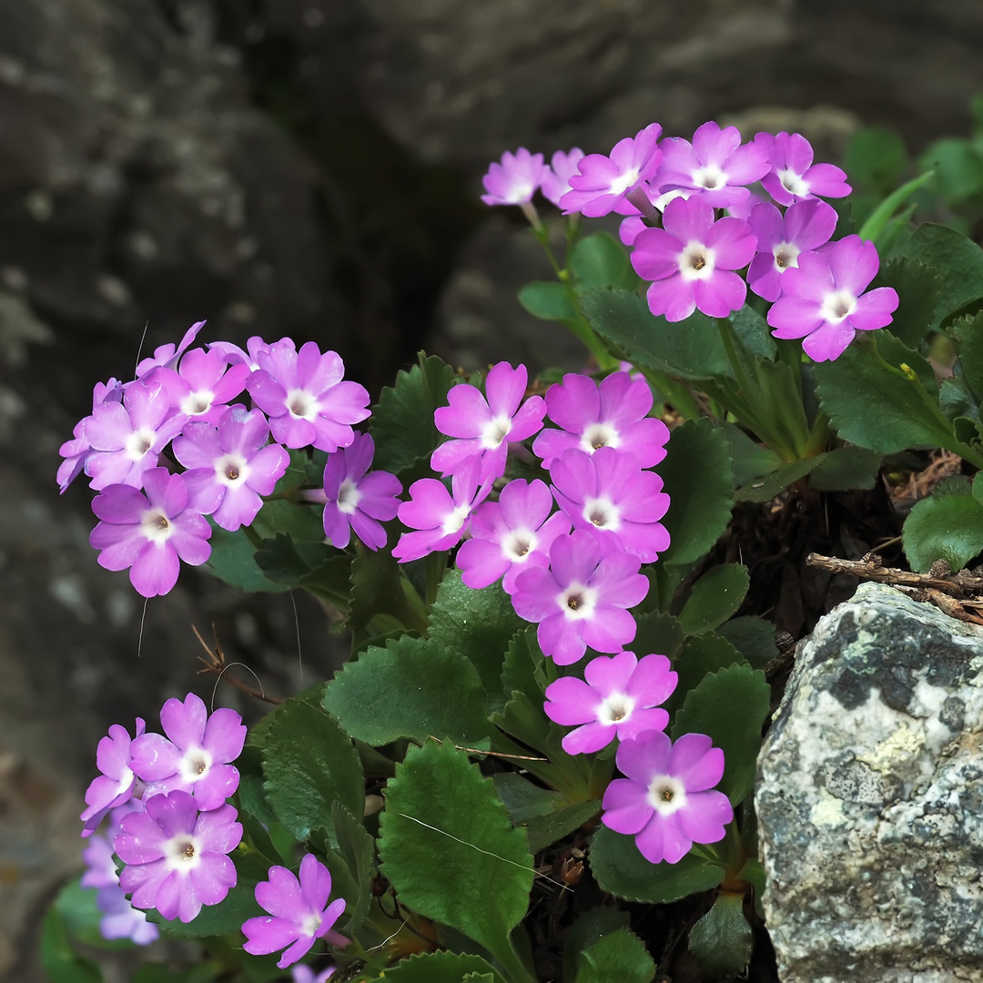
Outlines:
<svg viewBox="0 0 983 983"><path fill-rule="evenodd" d="M269 915L243 924L243 949L253 955L283 949L276 964L285 969L308 954L318 939L346 946L348 940L332 930L345 899L336 897L328 904L330 894L331 875L313 853L304 854L299 878L286 867L270 867L269 880L256 886L256 899Z"/></svg>

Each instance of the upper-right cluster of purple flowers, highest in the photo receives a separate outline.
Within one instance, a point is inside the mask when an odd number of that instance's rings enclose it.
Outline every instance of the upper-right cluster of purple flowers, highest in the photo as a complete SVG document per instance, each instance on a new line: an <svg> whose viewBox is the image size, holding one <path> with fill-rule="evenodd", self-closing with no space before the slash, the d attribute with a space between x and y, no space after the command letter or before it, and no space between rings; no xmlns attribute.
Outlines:
<svg viewBox="0 0 983 983"><path fill-rule="evenodd" d="M607 155L557 151L552 166L520 148L492 164L486 188L521 185L527 207L540 189L564 214L626 216L621 241L650 282L650 310L666 320L697 310L725 318L750 287L775 303L776 337L802 338L818 362L838 358L856 331L891 323L896 291L865 293L880 265L876 247L855 235L830 241L837 212L822 199L849 195L846 175L814 164L804 137L759 133L742 144L736 127L713 122L692 142L661 134L652 124ZM759 183L763 195L751 190ZM484 201L517 203L504 193Z"/></svg>

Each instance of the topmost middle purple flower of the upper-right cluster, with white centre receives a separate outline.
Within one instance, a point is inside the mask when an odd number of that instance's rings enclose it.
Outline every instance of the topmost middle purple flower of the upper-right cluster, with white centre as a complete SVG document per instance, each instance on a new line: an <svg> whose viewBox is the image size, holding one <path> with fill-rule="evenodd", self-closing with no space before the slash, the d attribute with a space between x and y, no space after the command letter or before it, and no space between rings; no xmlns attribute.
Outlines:
<svg viewBox="0 0 983 983"><path fill-rule="evenodd" d="M663 160L656 181L661 191L686 189L715 208L743 202L754 184L768 173L768 155L758 145L741 145L734 126L723 130L714 122L704 123L693 134L693 143L669 137L662 143Z"/></svg>

